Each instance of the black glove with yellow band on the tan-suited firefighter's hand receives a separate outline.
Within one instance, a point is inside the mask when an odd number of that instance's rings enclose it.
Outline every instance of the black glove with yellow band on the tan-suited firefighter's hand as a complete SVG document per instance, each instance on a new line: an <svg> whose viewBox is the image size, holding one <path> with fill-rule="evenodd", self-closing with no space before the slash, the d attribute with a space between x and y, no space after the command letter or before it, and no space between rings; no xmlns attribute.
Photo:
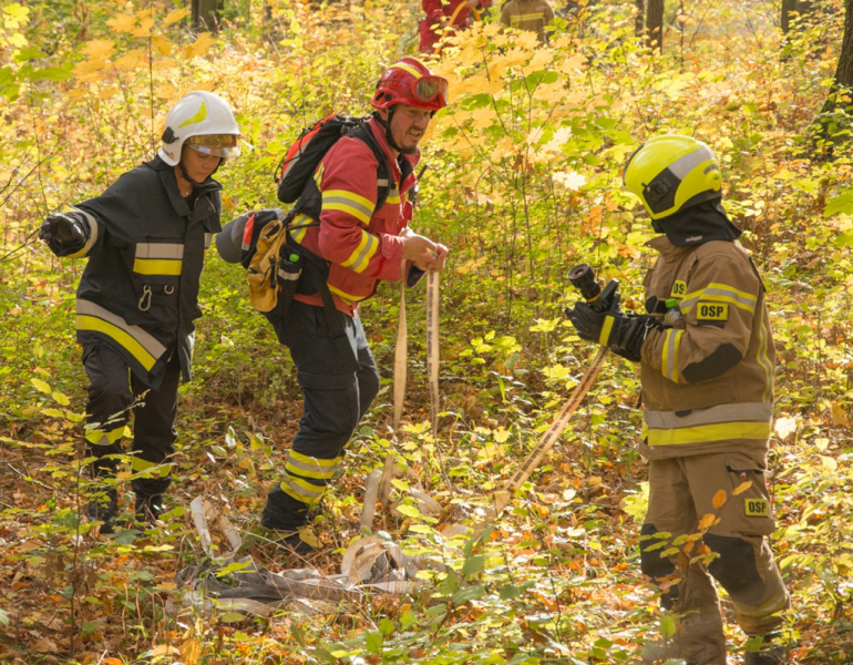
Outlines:
<svg viewBox="0 0 853 665"><path fill-rule="evenodd" d="M596 341L634 362L640 360L640 349L649 329L662 328L654 316L625 316L613 308L599 311L584 301L576 303L566 315L580 339Z"/></svg>

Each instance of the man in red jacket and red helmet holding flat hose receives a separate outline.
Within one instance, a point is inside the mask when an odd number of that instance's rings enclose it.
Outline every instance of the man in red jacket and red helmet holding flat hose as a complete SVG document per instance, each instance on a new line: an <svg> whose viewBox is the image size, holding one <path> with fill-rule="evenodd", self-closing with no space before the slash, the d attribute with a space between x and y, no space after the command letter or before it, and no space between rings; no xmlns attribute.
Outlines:
<svg viewBox="0 0 853 665"><path fill-rule="evenodd" d="M422 62L403 58L377 84L376 112L366 123L381 147L391 191L378 209L379 163L368 144L340 139L314 176L321 197L319 225L304 214L291 223L291 237L329 263L328 287L349 345L336 344L319 294L297 293L287 315L269 317L290 349L305 396L304 416L284 475L267 497L261 525L281 533L297 551L307 543L297 533L308 510L322 495L342 459L343 447L379 391L379 371L359 318L359 303L380 280L405 279L413 286L426 270L441 270L448 249L409 228L419 143L432 115L448 103L448 82ZM310 225L310 226L309 226Z"/></svg>

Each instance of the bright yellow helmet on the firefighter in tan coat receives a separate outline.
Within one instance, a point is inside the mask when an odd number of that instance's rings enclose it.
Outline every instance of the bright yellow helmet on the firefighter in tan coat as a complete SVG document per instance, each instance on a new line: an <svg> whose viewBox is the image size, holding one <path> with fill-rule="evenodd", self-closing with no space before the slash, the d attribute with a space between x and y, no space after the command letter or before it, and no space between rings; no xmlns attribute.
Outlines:
<svg viewBox="0 0 853 665"><path fill-rule="evenodd" d="M713 152L678 134L649 139L630 156L623 184L639 196L652 219L720 196L722 176Z"/></svg>

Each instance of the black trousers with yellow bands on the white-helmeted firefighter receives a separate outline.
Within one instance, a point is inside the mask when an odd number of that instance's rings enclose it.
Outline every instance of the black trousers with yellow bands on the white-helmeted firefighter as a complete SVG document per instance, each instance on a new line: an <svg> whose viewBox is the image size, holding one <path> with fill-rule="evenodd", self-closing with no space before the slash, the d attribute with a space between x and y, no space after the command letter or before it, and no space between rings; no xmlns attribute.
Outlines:
<svg viewBox="0 0 853 665"><path fill-rule="evenodd" d="M122 443L133 412L131 487L140 497L162 494L172 482L169 462L177 439L177 354L169 360L157 390L143 383L106 344L85 345L83 367L89 376L86 454L96 458L92 464L94 475L115 475L116 456L125 453Z"/></svg>

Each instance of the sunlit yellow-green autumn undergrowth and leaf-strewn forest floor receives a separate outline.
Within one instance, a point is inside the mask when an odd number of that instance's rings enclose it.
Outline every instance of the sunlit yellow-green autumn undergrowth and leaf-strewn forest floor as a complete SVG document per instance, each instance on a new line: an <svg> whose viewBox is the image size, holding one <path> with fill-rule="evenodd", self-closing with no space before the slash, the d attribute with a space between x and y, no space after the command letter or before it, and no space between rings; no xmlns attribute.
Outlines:
<svg viewBox="0 0 853 665"><path fill-rule="evenodd" d="M450 572L411 596L333 615L220 621L165 612L174 573L202 560L186 507L204 493L245 532L255 528L300 415L288 354L251 311L241 269L210 256L167 528L96 540L81 520L86 488L75 462L82 264L53 258L33 232L49 212L148 158L169 104L194 88L228 99L244 131L244 156L218 174L226 217L275 205L271 171L286 146L314 119L367 113L382 66L413 43L418 8L279 0L266 3L267 17L244 2L218 34L199 35L171 2L2 3L0 658L192 663L201 647L195 662L207 664L636 662L669 628L636 561L644 468L639 378L628 362L608 362L485 544L465 548L439 528L483 515L592 358L562 318L574 297L571 267L590 263L618 278L624 301L641 309L651 231L620 192L619 170L644 139L679 132L720 155L727 207L769 293L779 354L774 540L795 593L790 635L800 662L846 662L850 143L843 117L829 143L812 124L843 12L837 1L816 2L783 43L764 4L695 4L690 20L668 29L662 55L635 39L634 3L609 1L561 19L547 49L487 22L435 62L453 104L424 150L414 226L452 250L440 427L428 424L415 290L407 424L392 431L386 385L315 523L329 553L311 563L337 572L339 548L359 533L363 480L393 446L412 471L395 499L410 502L407 485L420 483L448 514L435 523L411 504L377 526ZM363 308L387 379L397 308L395 285ZM250 553L274 569L300 565L263 542Z"/></svg>

